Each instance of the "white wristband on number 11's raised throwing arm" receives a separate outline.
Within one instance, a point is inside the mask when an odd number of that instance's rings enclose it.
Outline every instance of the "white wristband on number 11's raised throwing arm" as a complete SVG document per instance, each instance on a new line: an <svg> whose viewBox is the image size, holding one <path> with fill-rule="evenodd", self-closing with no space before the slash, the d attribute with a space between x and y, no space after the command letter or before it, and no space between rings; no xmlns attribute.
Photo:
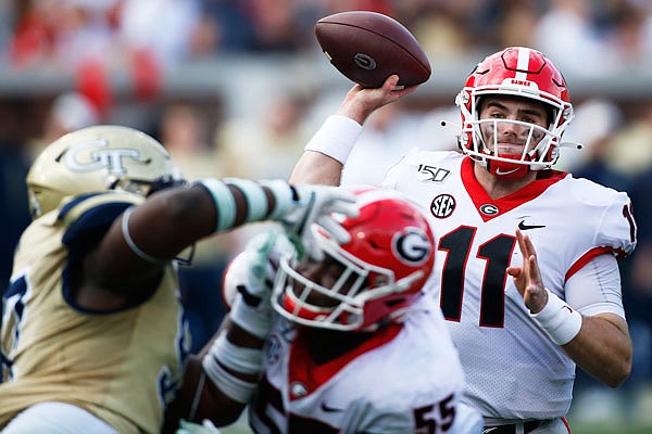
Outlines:
<svg viewBox="0 0 652 434"><path fill-rule="evenodd" d="M344 164L361 132L362 126L350 117L330 115L304 149L321 152Z"/></svg>

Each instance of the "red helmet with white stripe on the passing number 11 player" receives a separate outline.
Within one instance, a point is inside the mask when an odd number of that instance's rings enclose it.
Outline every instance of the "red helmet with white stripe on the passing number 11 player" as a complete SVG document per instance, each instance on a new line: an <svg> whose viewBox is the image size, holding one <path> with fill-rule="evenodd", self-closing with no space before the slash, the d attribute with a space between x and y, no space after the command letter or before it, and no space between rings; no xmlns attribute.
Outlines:
<svg viewBox="0 0 652 434"><path fill-rule="evenodd" d="M509 119L479 119L482 97L512 95L543 103L550 113L548 128ZM559 146L564 129L573 118L566 82L559 69L539 51L525 47L510 47L487 56L473 71L455 99L462 113L460 146L492 174L523 176L530 170L549 168L559 158ZM514 123L529 128L529 136L521 155L501 154L485 143L480 125ZM496 136L496 135L494 135ZM538 143L534 137L542 137ZM498 169L498 171L497 171Z"/></svg>

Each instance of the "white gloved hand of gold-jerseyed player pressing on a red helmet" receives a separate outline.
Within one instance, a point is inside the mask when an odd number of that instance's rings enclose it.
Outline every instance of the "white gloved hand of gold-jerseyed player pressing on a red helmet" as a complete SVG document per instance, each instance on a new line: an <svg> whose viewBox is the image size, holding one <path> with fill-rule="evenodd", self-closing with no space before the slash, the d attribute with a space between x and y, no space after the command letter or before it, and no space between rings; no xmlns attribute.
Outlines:
<svg viewBox="0 0 652 434"><path fill-rule="evenodd" d="M337 220L337 215L356 217L360 214L355 196L343 189L329 186L296 186L298 201L296 209L290 212L281 224L288 239L297 248L297 257L302 260L308 254L315 260L324 258L312 232L312 225L323 227L336 242L349 242L349 233Z"/></svg>

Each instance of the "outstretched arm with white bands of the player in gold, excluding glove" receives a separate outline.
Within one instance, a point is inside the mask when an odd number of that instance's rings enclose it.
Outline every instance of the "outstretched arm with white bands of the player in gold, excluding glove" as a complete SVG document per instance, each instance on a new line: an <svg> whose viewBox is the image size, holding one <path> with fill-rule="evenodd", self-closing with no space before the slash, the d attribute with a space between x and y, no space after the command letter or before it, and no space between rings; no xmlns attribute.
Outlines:
<svg viewBox="0 0 652 434"><path fill-rule="evenodd" d="M205 179L164 190L116 219L86 266L100 286L131 293L140 286L134 276L159 273L192 243L244 224L279 221L302 206L297 189L283 180Z"/></svg>

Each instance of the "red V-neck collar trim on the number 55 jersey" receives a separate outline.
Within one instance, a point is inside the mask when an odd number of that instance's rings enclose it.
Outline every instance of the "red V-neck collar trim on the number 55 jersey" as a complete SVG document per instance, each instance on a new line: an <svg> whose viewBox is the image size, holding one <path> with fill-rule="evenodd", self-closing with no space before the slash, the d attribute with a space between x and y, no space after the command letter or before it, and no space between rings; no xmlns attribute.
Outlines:
<svg viewBox="0 0 652 434"><path fill-rule="evenodd" d="M308 344L305 337L298 334L297 340L290 348L289 355L289 384L301 383L305 386L308 394L313 393L322 384L330 380L337 374L342 368L344 368L351 360L355 359L362 354L378 348L386 343L393 340L399 332L403 329L402 324L389 324L381 331L378 331L375 335L364 341L361 345L354 349L342 354L335 359L327 361L323 365L317 365L310 356L308 350ZM302 398L303 396L293 396L290 393L290 400Z"/></svg>

